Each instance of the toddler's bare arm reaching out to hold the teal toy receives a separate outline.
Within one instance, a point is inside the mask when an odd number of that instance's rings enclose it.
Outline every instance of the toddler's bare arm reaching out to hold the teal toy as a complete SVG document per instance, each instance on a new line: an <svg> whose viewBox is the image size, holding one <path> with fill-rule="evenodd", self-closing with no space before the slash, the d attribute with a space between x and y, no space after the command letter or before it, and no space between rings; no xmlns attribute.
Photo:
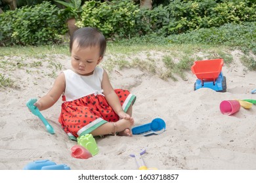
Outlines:
<svg viewBox="0 0 256 183"><path fill-rule="evenodd" d="M45 110L47 108L50 108L58 101L60 98L60 95L64 92L66 87L65 84L65 76L64 73L60 73L60 75L57 76L56 80L54 81L53 88L41 97L39 101L37 101L34 105L39 109L39 110Z"/></svg>

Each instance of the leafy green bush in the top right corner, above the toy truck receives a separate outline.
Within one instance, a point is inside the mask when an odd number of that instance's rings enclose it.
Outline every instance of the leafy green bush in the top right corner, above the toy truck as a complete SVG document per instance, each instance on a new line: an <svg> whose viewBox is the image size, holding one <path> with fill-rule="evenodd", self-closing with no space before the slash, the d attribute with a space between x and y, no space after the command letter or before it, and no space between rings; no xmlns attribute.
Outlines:
<svg viewBox="0 0 256 183"><path fill-rule="evenodd" d="M255 8L256 5L251 4L250 1L234 0L217 3L214 0L175 0L167 7L170 21L165 25L165 31L171 35L202 27L219 27L231 22L255 22Z"/></svg>

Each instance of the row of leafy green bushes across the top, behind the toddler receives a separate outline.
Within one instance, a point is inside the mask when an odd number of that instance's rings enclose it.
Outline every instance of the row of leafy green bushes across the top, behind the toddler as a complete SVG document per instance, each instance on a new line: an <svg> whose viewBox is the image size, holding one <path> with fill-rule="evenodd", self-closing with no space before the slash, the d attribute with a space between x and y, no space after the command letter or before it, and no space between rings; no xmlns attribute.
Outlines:
<svg viewBox="0 0 256 183"><path fill-rule="evenodd" d="M26 5L22 2L18 1L16 10L6 10L0 14L0 45L62 42L61 36L67 32L64 8L57 7L54 1L26 1ZM145 35L168 37L256 20L254 0L173 0L154 1L153 5L149 10L140 8L138 2L131 0L82 1L77 26L93 26L108 39L119 40ZM232 30L230 25L225 27L229 31L238 31Z"/></svg>

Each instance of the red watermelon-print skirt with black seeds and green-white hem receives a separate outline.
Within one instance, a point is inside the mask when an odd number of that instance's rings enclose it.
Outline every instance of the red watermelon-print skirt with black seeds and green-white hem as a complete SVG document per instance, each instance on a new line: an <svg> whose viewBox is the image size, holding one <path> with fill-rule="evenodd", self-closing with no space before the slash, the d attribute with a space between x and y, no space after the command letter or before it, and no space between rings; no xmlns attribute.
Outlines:
<svg viewBox="0 0 256 183"><path fill-rule="evenodd" d="M115 90L123 110L135 103L136 96L128 90ZM64 96L63 96L64 97ZM117 122L119 116L108 105L104 95L91 94L74 101L64 101L62 103L58 122L71 140L95 130L107 122Z"/></svg>

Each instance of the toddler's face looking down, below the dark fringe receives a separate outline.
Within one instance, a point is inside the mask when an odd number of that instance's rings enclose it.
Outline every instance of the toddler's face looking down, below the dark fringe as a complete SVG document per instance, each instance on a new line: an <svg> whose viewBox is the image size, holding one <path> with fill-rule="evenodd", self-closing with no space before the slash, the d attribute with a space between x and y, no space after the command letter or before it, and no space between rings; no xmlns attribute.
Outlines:
<svg viewBox="0 0 256 183"><path fill-rule="evenodd" d="M98 65L102 59L98 46L81 48L76 41L74 41L72 46L71 57L74 71L79 75L85 76L92 75L96 65Z"/></svg>

